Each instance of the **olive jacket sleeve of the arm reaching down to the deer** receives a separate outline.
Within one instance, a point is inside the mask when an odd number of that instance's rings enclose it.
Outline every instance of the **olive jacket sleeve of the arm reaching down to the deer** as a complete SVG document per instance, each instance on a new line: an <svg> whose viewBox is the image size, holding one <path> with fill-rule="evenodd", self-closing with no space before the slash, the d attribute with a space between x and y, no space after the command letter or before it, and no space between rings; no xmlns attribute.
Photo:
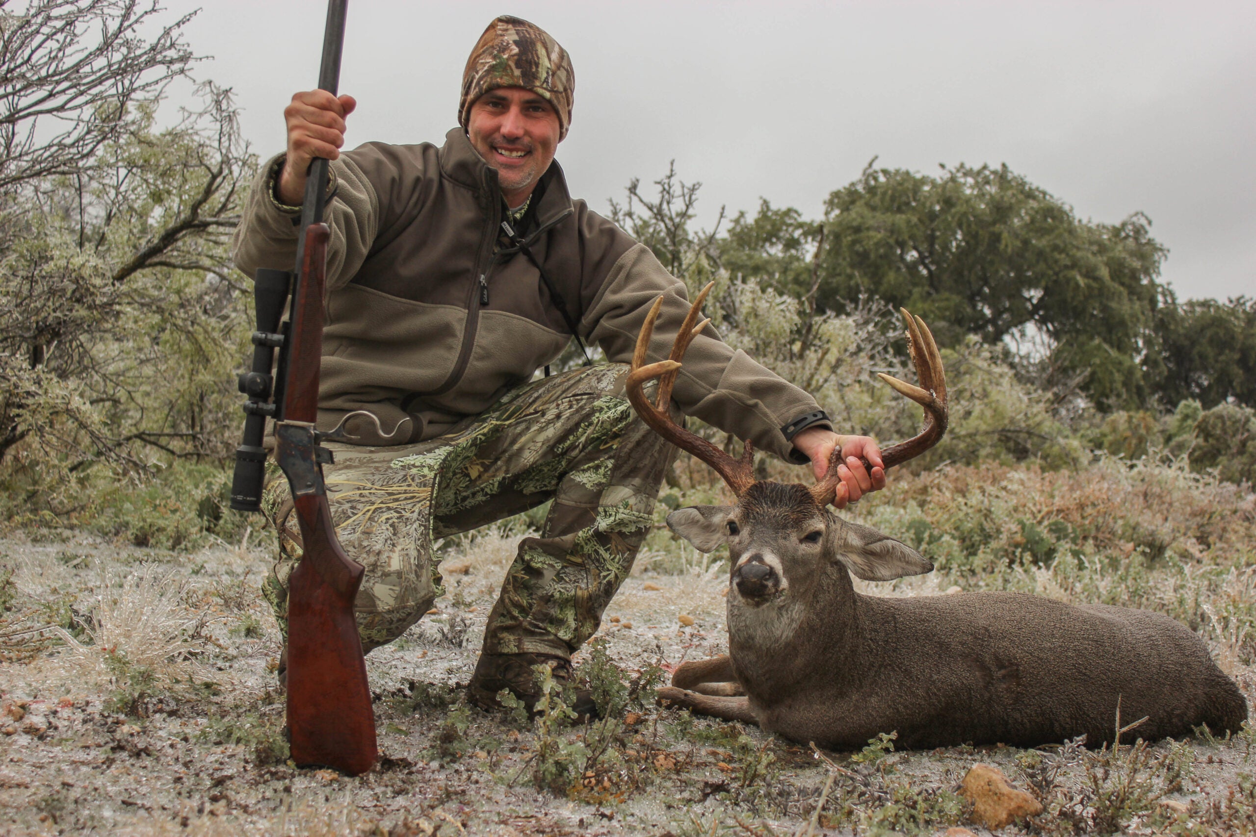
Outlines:
<svg viewBox="0 0 1256 837"><path fill-rule="evenodd" d="M668 274L644 245L632 246L615 261L585 309L580 329L590 343L602 346L608 359L629 363L641 326L659 295L663 307L648 356L651 361L663 360L671 353L690 302L685 284ZM808 462L781 428L820 409L815 399L745 351L734 350L711 326L690 344L672 398L686 415L740 439L750 439L756 448L770 450L786 462Z"/></svg>

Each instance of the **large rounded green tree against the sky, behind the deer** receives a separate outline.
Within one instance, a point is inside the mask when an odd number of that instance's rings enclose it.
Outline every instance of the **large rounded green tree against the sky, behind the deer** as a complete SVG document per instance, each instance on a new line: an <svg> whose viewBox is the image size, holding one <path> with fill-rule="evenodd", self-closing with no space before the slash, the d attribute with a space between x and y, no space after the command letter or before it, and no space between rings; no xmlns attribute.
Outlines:
<svg viewBox="0 0 1256 837"><path fill-rule="evenodd" d="M929 177L869 163L825 205L818 300L840 311L878 296L936 324L943 345L1036 336L1096 404L1134 405L1166 252L1149 226L1081 221L1006 166Z"/></svg>

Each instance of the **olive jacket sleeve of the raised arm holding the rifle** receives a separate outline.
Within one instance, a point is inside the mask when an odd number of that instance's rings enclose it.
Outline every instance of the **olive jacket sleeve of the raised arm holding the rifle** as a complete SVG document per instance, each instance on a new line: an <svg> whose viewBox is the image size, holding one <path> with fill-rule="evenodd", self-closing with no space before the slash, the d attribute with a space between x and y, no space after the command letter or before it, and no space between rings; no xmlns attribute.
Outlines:
<svg viewBox="0 0 1256 837"><path fill-rule="evenodd" d="M259 267L291 270L301 208L275 197L275 178L285 154L273 157L254 178L231 250L236 267L254 276ZM376 240L379 200L371 181L349 154L332 162L324 221L332 228L327 253L328 290L358 272Z"/></svg>

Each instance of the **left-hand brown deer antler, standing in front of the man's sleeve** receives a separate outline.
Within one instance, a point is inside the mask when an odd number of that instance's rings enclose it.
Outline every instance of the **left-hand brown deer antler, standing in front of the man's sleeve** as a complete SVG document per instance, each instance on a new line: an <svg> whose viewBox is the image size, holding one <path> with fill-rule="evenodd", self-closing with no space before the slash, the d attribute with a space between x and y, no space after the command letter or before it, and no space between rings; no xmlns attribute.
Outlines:
<svg viewBox="0 0 1256 837"><path fill-rule="evenodd" d="M628 400L646 424L681 450L692 453L715 468L716 473L723 477L723 481L732 488L732 492L737 497L741 497L747 488L755 484L754 450L750 447L750 442L746 442L746 449L741 459L734 459L702 437L678 425L672 420L668 412L668 402L672 399L672 387L676 385L681 358L685 356L685 350L690 348L693 338L711 321L706 319L695 325L698 319L698 309L713 286L715 282L710 282L703 287L702 292L693 300L693 305L690 306L690 312L685 317L685 323L681 324L679 330L676 333L671 358L643 365L646 363L646 350L649 348L649 339L654 334L654 320L658 319L658 311L663 306L662 296L654 300L654 306L649 310L646 323L641 326L641 334L637 336L637 350L633 353L632 371L628 373L625 388L628 390ZM654 403L651 404L642 387L646 381L654 378L658 379L658 394L654 398Z"/></svg>

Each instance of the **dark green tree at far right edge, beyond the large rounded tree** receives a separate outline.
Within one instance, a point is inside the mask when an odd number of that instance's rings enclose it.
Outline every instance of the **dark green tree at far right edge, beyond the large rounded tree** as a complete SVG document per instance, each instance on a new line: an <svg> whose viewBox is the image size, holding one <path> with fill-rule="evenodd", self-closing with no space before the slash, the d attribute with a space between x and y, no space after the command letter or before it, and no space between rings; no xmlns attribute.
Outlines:
<svg viewBox="0 0 1256 837"><path fill-rule="evenodd" d="M1156 311L1143 369L1164 404L1227 400L1256 407L1256 300L1168 296Z"/></svg>

